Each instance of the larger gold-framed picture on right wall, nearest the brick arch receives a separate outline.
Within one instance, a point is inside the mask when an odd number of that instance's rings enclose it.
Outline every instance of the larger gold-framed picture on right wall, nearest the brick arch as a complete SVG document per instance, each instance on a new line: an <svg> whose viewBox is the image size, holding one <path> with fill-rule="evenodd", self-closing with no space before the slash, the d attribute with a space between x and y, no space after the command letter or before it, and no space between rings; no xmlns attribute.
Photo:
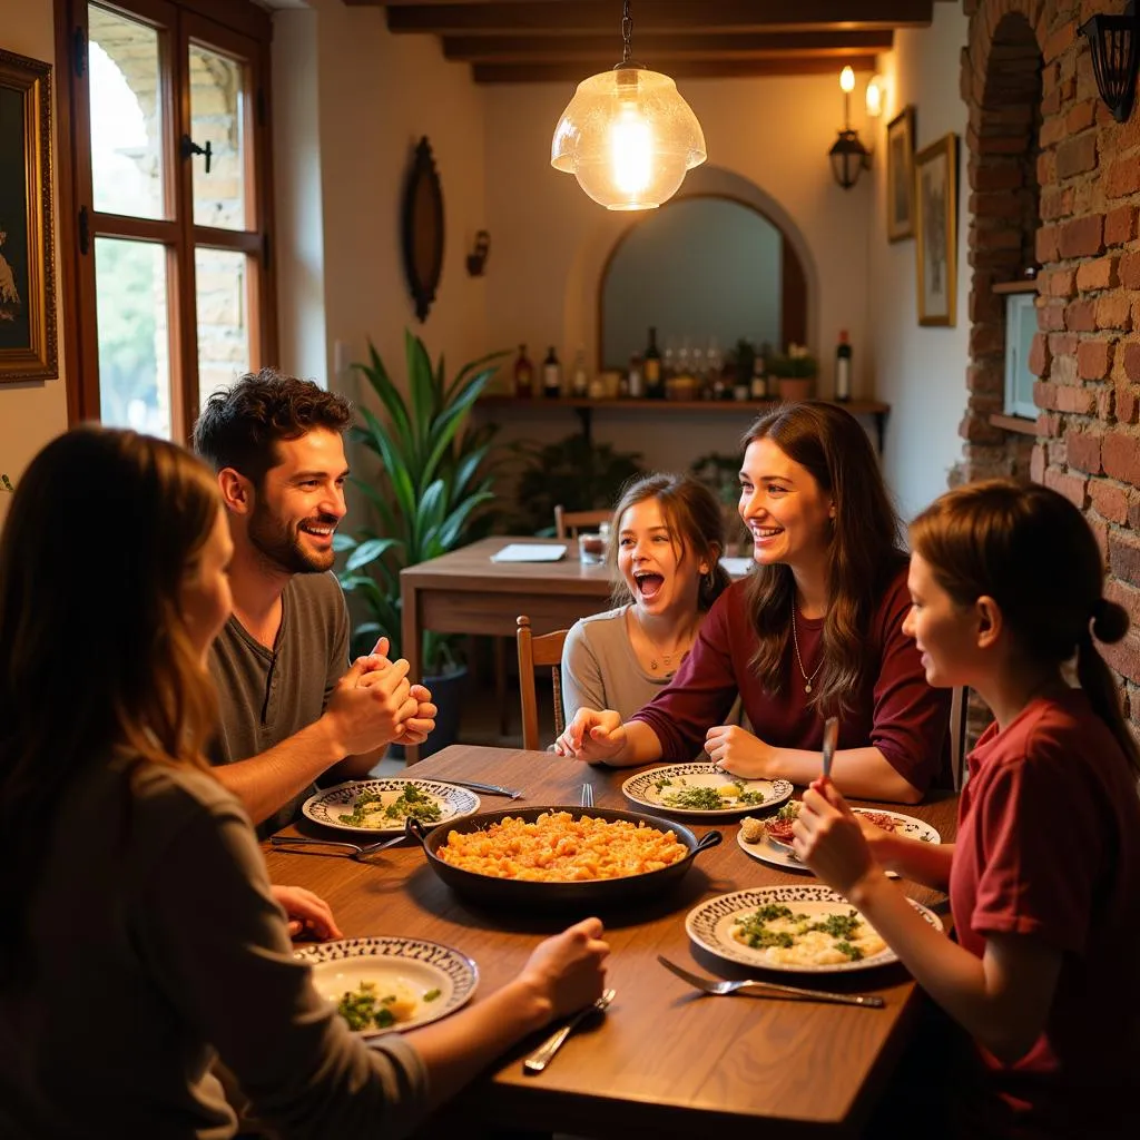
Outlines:
<svg viewBox="0 0 1140 1140"><path fill-rule="evenodd" d="M914 220L919 324L953 326L958 296L958 136L953 132L914 156Z"/></svg>

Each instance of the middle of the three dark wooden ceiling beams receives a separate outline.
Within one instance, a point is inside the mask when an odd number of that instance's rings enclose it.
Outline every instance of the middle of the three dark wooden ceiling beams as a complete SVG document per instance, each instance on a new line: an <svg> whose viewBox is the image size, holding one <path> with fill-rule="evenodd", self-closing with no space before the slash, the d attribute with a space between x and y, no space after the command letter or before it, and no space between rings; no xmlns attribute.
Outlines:
<svg viewBox="0 0 1140 1140"><path fill-rule="evenodd" d="M636 57L652 66L671 59L764 59L796 56L865 55L889 51L893 32L750 32L740 35L641 35ZM469 63L569 63L621 58L613 35L445 35L443 55Z"/></svg>

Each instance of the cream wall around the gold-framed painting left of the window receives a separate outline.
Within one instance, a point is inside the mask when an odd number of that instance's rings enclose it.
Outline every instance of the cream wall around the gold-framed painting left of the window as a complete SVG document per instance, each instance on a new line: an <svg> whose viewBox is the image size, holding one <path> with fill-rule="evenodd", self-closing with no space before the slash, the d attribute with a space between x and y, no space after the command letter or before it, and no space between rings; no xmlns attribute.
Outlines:
<svg viewBox="0 0 1140 1140"><path fill-rule="evenodd" d="M0 47L17 55L55 63L55 39L51 5L27 3L26 0L0 0ZM58 123L57 95L52 74L51 109L52 136ZM52 155L55 155L55 137ZM58 166L57 166L58 170ZM58 173L56 173L58 179ZM58 181L52 184L58 193ZM58 212L58 197L56 203ZM56 290L59 279L58 234L56 237ZM36 451L67 426L67 396L64 376L66 361L63 351L63 312L56 312L56 334L59 337L59 380L36 383L0 384L0 471L13 482L19 481L21 472ZM9 496L0 491L0 523L8 510Z"/></svg>

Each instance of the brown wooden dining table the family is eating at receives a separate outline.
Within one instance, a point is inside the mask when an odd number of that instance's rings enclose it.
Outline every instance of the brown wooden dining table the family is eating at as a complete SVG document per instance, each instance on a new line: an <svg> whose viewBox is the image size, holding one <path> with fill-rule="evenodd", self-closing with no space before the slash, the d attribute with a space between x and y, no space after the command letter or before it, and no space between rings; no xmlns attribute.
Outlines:
<svg viewBox="0 0 1140 1140"><path fill-rule="evenodd" d="M596 806L628 808L634 805L624 798L621 784L632 774L634 769L591 767L548 752L469 744L446 748L412 773L480 780L523 792L513 801L483 793L481 811L578 805L584 783L592 785ZM943 840L953 839L952 796L905 811L935 826ZM684 822L698 836L710 830ZM600 914L612 947L606 984L617 991L605 1017L578 1029L538 1076L524 1075L521 1058L543 1035L489 1059L484 1076L450 1106L448 1118L597 1138L694 1140L720 1129L731 1130L727 1135L755 1130L765 1138L858 1133L926 999L897 963L790 975L734 966L691 943L685 915L709 898L748 887L816 881L806 871L781 871L746 854L736 842L736 819L718 820L715 826L724 841L701 853L668 894ZM307 820L280 834L347 838ZM267 861L275 882L321 895L347 937L416 936L474 959L480 972L474 1001L516 977L543 937L583 917L469 903L435 876L410 840L368 862L280 847L267 847ZM944 895L914 883L901 886L948 922ZM706 977L768 977L819 990L873 993L886 1005L706 996L660 966L658 954ZM437 1122L425 1134L443 1134L443 1127Z"/></svg>

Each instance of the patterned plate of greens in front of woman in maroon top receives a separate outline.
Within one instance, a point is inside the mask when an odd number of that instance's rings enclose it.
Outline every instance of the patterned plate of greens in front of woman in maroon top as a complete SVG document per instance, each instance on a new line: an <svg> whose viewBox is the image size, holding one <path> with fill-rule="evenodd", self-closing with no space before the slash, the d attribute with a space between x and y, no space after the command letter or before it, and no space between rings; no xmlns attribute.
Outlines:
<svg viewBox="0 0 1140 1140"><path fill-rule="evenodd" d="M787 780L742 780L715 764L670 764L630 776L626 799L674 815L727 819L763 812L791 798Z"/></svg>

